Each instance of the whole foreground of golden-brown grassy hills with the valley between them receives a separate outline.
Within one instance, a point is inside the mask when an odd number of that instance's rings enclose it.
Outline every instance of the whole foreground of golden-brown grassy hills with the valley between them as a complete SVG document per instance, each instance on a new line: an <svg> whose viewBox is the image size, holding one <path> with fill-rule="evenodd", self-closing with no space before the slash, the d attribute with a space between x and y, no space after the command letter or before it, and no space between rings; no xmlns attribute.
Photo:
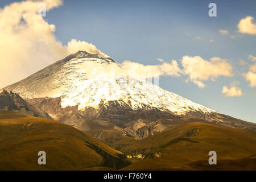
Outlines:
<svg viewBox="0 0 256 182"><path fill-rule="evenodd" d="M142 140L109 130L92 133L49 119L0 111L1 170L255 170L256 133L181 119ZM88 121L92 122L92 121ZM177 120L168 121L173 125ZM95 123L98 123L96 125ZM99 126L104 121L95 121ZM38 151L47 165L38 165ZM208 152L217 152L210 166Z"/></svg>

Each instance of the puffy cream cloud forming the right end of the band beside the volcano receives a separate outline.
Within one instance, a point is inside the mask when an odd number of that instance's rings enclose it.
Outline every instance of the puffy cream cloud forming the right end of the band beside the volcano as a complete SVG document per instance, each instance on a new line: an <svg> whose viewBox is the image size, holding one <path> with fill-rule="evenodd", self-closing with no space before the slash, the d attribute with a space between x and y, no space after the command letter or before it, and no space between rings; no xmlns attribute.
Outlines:
<svg viewBox="0 0 256 182"><path fill-rule="evenodd" d="M212 57L210 61L204 60L200 56L183 56L181 60L183 74L189 76L189 80L200 88L204 88L203 81L212 80L219 76L233 76L232 65L227 60L220 57Z"/></svg>

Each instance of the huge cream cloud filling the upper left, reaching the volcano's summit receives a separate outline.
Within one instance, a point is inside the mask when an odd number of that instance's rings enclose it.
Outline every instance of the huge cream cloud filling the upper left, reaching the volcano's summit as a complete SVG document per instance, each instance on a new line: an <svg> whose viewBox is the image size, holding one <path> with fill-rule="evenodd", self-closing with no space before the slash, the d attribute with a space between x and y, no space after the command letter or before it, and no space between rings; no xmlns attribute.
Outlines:
<svg viewBox="0 0 256 182"><path fill-rule="evenodd" d="M15 2L0 9L0 88L19 81L70 53L79 50L102 53L92 44L75 39L63 46L55 38L55 25L47 23L38 15L39 3L45 3L46 10L49 11L61 6L63 1Z"/></svg>

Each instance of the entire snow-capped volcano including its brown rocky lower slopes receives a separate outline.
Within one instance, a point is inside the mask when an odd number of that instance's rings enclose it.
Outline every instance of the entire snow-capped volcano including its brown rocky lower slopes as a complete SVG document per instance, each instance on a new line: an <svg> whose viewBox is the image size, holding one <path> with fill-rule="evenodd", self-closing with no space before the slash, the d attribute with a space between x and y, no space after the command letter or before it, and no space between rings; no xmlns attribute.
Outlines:
<svg viewBox="0 0 256 182"><path fill-rule="evenodd" d="M159 119L176 118L256 130L253 123L196 104L133 72L127 74L108 55L85 51L73 53L4 89L19 94L57 121L85 131L97 128L95 136L101 137L111 126L111 130L124 135L145 138L173 127ZM87 119L97 122L88 123Z"/></svg>

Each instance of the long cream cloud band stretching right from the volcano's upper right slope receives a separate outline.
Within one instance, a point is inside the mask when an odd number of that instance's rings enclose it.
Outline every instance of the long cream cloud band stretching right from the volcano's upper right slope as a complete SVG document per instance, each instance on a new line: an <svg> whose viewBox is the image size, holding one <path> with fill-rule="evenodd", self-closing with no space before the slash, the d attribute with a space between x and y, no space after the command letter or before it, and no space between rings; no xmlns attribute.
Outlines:
<svg viewBox="0 0 256 182"><path fill-rule="evenodd" d="M175 77L187 75L189 76L187 81L193 82L199 86L199 88L205 87L203 81L215 81L219 76L233 76L232 65L230 65L226 59L221 59L220 57L212 57L210 61L208 61L200 56L183 56L181 64L182 69L179 67L176 60L172 60L171 63L162 62L162 64L159 65L143 65L131 61L124 61L121 64L122 69L119 70L119 67L117 67L114 68L114 70L115 73L125 74L135 78L148 78L154 75ZM233 84L237 83L234 82Z"/></svg>

